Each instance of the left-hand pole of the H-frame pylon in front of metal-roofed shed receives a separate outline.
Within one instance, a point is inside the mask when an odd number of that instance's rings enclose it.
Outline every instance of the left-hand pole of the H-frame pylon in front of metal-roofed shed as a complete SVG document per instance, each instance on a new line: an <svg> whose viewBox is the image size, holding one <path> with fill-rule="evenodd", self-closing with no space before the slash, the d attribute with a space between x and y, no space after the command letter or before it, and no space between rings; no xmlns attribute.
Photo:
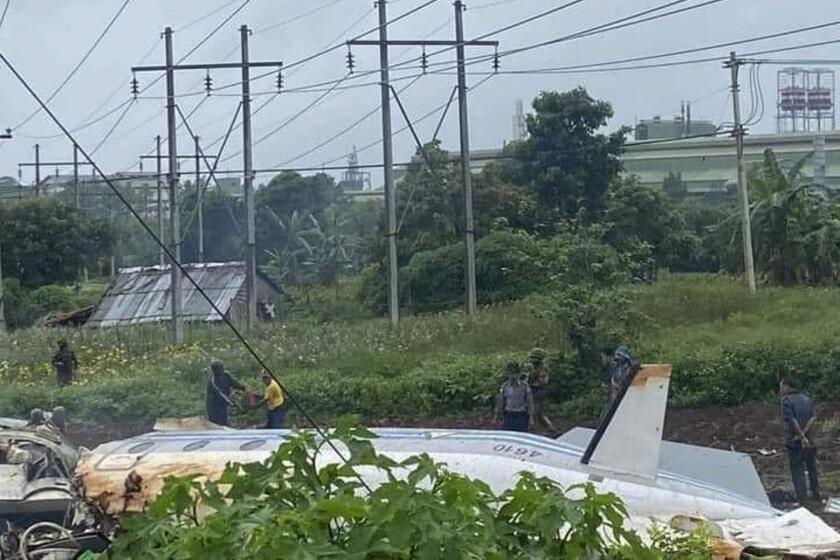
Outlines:
<svg viewBox="0 0 840 560"><path fill-rule="evenodd" d="M172 290L172 344L184 342L184 325L181 317L181 228L178 210L178 146L177 127L175 124L175 70L172 53L172 28L164 31L166 41L166 127L167 148L169 151L169 250L174 258L170 259L170 289Z"/></svg>

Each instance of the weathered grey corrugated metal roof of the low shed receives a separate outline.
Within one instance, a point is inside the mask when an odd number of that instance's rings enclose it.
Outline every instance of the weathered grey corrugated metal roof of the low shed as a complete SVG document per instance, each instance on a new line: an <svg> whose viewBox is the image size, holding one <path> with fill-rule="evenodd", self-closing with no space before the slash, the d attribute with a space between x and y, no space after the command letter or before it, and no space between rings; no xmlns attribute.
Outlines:
<svg viewBox="0 0 840 560"><path fill-rule="evenodd" d="M245 285L242 262L193 263L184 265L223 313L227 313ZM186 278L181 283L184 321L220 321L210 304ZM86 326L112 327L155 321L171 317L169 265L124 268L102 296Z"/></svg>

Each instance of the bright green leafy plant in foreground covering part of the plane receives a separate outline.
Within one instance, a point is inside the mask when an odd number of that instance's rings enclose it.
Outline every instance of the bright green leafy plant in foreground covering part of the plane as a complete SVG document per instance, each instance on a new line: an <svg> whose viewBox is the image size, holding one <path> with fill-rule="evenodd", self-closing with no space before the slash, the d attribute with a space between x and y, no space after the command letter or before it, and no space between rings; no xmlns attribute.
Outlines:
<svg viewBox="0 0 840 560"><path fill-rule="evenodd" d="M560 488L523 472L496 495L427 455L395 463L373 434L332 434L347 462L317 465L311 433L262 464L230 465L219 481L170 478L142 514L122 520L117 558L408 558L711 560L702 531L655 528L643 544L627 511L591 485ZM374 474L376 473L376 474ZM365 484L381 481L372 491ZM110 557L110 556L109 556Z"/></svg>

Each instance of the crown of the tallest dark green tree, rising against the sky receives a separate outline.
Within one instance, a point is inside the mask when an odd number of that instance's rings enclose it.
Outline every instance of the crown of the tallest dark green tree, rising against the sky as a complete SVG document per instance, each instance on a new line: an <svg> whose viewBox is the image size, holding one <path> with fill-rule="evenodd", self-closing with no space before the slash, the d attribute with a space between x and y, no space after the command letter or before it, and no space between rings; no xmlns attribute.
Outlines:
<svg viewBox="0 0 840 560"><path fill-rule="evenodd" d="M627 129L599 133L613 116L612 107L584 88L542 92L533 108L526 121L528 137L510 148L514 158L506 166L507 178L530 186L549 221L573 218L580 209L597 219L621 171Z"/></svg>

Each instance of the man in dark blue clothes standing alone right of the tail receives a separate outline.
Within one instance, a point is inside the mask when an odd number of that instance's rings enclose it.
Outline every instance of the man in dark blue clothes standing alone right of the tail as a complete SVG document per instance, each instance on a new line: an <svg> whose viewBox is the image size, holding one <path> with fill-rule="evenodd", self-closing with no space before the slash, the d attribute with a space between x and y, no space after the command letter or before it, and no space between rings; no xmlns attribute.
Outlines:
<svg viewBox="0 0 840 560"><path fill-rule="evenodd" d="M790 461L790 474L799 505L808 501L805 472L811 487L811 498L820 500L817 472L817 448L812 440L817 416L811 399L800 392L798 384L788 377L779 383L782 397L782 419L785 423L785 448Z"/></svg>

